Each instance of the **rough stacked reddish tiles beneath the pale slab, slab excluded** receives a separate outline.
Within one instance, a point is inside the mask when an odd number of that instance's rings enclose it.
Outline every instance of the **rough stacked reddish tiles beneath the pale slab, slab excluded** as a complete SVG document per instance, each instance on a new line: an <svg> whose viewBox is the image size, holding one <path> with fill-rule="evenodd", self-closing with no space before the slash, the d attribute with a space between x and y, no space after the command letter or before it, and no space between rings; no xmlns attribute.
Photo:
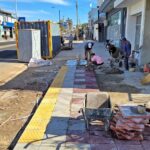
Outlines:
<svg viewBox="0 0 150 150"><path fill-rule="evenodd" d="M120 140L143 140L143 132L148 119L143 117L126 118L118 109L110 123L110 129Z"/></svg>

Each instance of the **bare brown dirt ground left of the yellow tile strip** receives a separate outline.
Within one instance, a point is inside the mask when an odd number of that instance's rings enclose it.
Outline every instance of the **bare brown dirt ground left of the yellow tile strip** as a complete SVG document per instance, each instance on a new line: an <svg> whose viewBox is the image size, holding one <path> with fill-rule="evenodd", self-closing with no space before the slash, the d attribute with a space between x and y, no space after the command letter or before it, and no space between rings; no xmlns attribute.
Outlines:
<svg viewBox="0 0 150 150"><path fill-rule="evenodd" d="M7 149L64 63L28 68L0 86L0 150Z"/></svg>

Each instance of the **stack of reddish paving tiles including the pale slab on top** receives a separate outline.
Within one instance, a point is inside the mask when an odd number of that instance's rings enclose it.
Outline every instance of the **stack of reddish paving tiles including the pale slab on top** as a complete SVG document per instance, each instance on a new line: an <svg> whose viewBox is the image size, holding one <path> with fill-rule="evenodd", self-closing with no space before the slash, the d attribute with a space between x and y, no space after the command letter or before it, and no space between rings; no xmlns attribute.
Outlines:
<svg viewBox="0 0 150 150"><path fill-rule="evenodd" d="M145 125L149 122L150 113L138 112L138 106L120 106L110 123L110 129L120 140L142 141Z"/></svg>

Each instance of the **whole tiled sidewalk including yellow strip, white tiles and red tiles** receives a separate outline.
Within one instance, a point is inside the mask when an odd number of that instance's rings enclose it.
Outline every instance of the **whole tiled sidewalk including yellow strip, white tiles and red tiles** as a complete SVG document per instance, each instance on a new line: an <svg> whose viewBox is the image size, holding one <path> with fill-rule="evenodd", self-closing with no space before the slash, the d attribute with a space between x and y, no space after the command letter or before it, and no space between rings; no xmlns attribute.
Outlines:
<svg viewBox="0 0 150 150"><path fill-rule="evenodd" d="M98 44L99 45L99 44ZM101 45L97 45L97 52ZM75 45L64 59L84 54L83 44ZM81 50L81 51L80 51ZM102 51L101 51L102 52ZM65 54L65 52L63 52ZM103 53L104 54L104 53ZM62 59L60 53L56 59ZM149 150L150 129L147 128L147 140L120 141L106 135L102 124L85 129L85 123L79 109L83 107L85 94L99 91L94 72L84 66L64 66L35 115L22 134L15 150Z"/></svg>

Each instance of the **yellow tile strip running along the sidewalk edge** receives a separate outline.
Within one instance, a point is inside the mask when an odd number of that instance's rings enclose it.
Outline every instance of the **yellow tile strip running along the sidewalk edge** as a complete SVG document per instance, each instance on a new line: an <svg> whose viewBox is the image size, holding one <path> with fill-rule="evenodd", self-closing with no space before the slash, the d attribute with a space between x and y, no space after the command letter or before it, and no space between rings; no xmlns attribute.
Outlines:
<svg viewBox="0 0 150 150"><path fill-rule="evenodd" d="M40 142L43 139L47 124L51 119L55 104L61 92L66 73L67 67L63 66L20 137L19 143Z"/></svg>

